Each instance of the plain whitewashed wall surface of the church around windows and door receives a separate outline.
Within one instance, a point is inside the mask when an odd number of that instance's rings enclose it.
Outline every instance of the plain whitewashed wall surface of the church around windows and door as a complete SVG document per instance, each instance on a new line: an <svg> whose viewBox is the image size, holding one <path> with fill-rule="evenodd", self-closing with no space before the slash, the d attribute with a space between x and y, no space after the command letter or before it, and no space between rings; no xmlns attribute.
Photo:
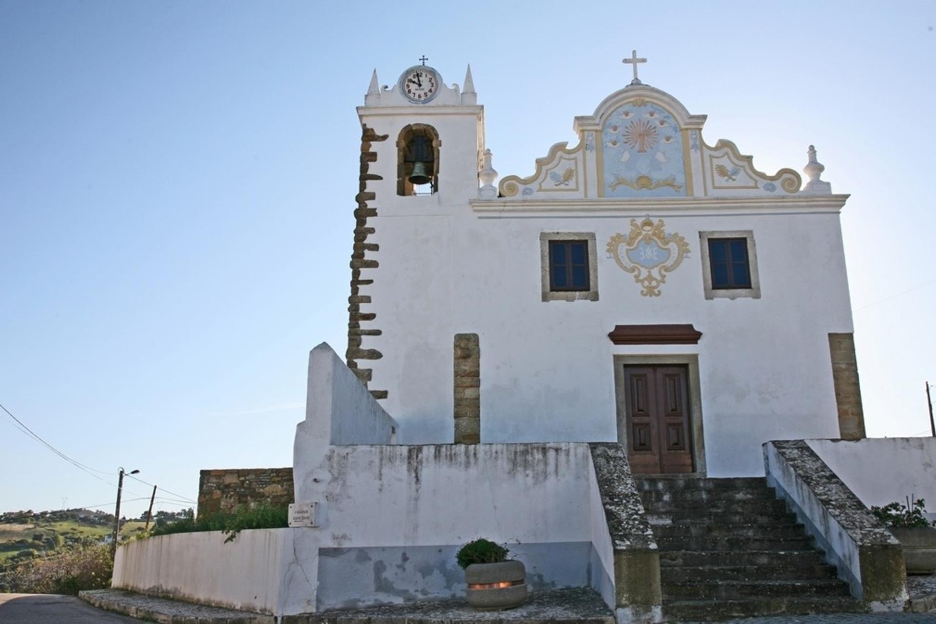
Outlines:
<svg viewBox="0 0 936 624"><path fill-rule="evenodd" d="M453 435L452 340L475 332L481 348L482 442L614 441L612 356L697 354L709 475L763 474L761 444L839 435L829 332L853 330L838 209L709 206L654 211L627 201L606 210L474 210L477 146L473 114L417 110L362 120L390 139L374 143L373 206L379 268L362 277L376 312L365 347L372 387L400 424L402 443L445 443ZM431 123L442 140L440 193L396 196L395 138L407 123ZM492 146L496 147L496 146ZM495 163L496 167L496 158ZM462 168L464 167L464 168ZM596 201L596 200L592 200ZM819 200L817 199L817 202ZM789 202L787 202L789 203ZM613 204L613 205L612 205ZM817 203L818 205L818 203ZM668 274L661 297L641 297L633 276L605 252L630 219L665 219L691 253ZM753 230L760 299L706 300L699 231ZM598 301L551 301L540 293L540 232L594 232ZM615 346L619 324L693 323L698 345Z"/></svg>

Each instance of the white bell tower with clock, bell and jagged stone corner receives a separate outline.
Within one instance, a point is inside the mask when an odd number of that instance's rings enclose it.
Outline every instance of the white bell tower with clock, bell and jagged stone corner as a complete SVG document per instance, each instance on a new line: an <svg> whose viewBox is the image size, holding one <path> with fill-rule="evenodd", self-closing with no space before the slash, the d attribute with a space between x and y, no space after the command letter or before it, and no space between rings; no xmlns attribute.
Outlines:
<svg viewBox="0 0 936 624"><path fill-rule="evenodd" d="M345 357L372 394L387 399L391 414L397 405L392 388L402 387L403 377L431 378L433 367L450 372L450 352L414 358L411 350L426 332L438 332L431 344L452 340L453 229L472 214L485 149L484 109L471 67L460 87L446 84L428 60L423 56L403 70L392 86L381 86L374 70L358 107L360 177Z"/></svg>

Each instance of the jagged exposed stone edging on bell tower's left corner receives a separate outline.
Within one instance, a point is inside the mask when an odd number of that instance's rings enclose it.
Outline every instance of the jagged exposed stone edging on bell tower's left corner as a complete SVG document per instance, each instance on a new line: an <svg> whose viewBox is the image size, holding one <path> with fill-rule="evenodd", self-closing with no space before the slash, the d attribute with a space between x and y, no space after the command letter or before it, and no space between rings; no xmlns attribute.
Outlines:
<svg viewBox="0 0 936 624"><path fill-rule="evenodd" d="M377 315L374 312L361 312L361 304L371 302L370 295L361 294L361 286L373 283L373 279L362 279L361 269L377 268L379 263L367 257L367 253L380 250L377 243L368 242L374 228L367 225L368 217L377 216L377 209L367 205L368 201L377 198L377 194L367 190L368 181L383 180L375 173L369 173L370 164L377 161L377 152L371 150L372 143L386 141L387 135L378 135L366 124L361 126L360 137L360 175L358 176L358 195L355 200L358 208L354 211L354 251L351 253L351 295L348 297L348 348L344 353L348 368L354 370L358 379L365 387L371 381L372 369L360 368L358 360L380 359L384 355L376 349L365 349L361 342L365 336L380 336L381 330L373 327L361 327L361 323L373 321ZM374 399L387 399L387 390L371 390Z"/></svg>

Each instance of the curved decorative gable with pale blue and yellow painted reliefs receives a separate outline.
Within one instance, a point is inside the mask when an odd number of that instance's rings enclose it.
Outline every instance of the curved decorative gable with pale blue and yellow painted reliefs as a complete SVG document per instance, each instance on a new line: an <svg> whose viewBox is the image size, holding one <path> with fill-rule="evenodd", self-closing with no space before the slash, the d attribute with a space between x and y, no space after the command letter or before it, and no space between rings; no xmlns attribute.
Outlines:
<svg viewBox="0 0 936 624"><path fill-rule="evenodd" d="M527 178L506 176L502 198L518 200L784 196L799 192L793 169L753 167L728 140L702 139L705 115L691 115L670 94L632 84L609 95L593 115L577 117L578 145L553 145Z"/></svg>

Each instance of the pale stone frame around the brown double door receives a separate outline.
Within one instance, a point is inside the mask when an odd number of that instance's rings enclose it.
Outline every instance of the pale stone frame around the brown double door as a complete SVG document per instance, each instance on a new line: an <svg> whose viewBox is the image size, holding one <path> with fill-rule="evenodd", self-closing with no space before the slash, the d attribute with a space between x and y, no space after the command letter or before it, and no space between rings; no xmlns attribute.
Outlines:
<svg viewBox="0 0 936 624"><path fill-rule="evenodd" d="M625 366L685 366L689 369L689 431L696 476L706 476L705 436L702 429L702 392L699 385L698 354L614 356L614 395L618 406L618 442L627 446L627 400L624 395Z"/></svg>

